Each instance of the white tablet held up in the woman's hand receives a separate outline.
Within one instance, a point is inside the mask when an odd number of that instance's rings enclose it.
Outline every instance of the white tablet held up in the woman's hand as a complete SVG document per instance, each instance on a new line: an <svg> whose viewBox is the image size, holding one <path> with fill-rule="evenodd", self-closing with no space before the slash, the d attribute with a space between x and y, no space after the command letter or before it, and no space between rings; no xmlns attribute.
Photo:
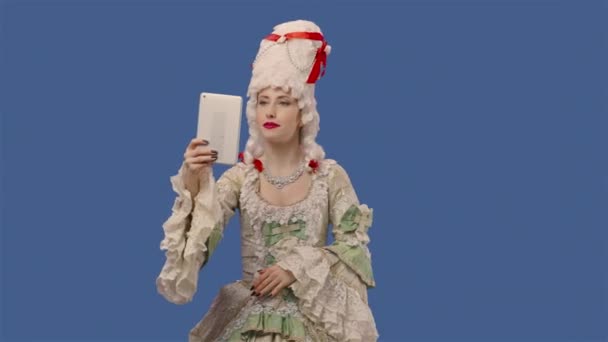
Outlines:
<svg viewBox="0 0 608 342"><path fill-rule="evenodd" d="M238 161L242 108L240 96L201 93L196 137L209 141L218 151L216 163L234 165Z"/></svg>

